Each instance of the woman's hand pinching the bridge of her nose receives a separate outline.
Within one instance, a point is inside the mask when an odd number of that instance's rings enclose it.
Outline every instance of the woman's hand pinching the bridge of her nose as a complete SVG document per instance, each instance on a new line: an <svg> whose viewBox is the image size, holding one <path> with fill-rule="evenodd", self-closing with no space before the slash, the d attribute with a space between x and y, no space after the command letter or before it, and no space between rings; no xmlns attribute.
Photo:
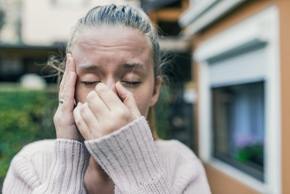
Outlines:
<svg viewBox="0 0 290 194"><path fill-rule="evenodd" d="M100 138L141 117L133 93L120 82L115 87L119 97L105 84L97 84L87 95L87 102L79 102L74 109L76 125L85 140Z"/></svg>

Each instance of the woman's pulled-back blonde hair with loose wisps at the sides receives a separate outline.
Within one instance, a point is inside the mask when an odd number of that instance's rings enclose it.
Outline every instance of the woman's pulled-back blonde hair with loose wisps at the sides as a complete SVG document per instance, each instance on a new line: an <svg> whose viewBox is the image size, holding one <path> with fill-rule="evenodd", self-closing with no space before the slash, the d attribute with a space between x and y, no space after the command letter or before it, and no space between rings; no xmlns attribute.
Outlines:
<svg viewBox="0 0 290 194"><path fill-rule="evenodd" d="M108 27L132 27L140 32L142 32L148 39L152 46L153 60L154 60L154 80L155 85L157 83L157 77L162 76L161 66L162 66L162 56L159 47L159 38L157 31L150 21L147 14L138 7L132 7L130 5L116 6L97 6L92 8L87 12L87 14L80 18L76 25L73 27L72 34L69 38L66 47L66 53L71 52L73 42L77 35L86 29L97 29L97 28L108 28ZM60 71L64 71L66 59L58 65L55 65L59 60L55 57L51 57L48 61L50 66L59 70L58 77L60 80ZM150 107L147 120L150 124L150 128L154 139L158 139L155 130L155 117L154 108Z"/></svg>

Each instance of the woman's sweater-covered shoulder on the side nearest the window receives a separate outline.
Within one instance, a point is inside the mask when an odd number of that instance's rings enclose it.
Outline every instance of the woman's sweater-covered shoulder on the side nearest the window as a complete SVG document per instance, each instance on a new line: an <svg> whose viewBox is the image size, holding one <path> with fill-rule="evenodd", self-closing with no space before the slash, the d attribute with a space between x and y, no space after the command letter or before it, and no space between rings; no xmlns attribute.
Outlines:
<svg viewBox="0 0 290 194"><path fill-rule="evenodd" d="M157 140L155 145L173 191L210 193L203 164L191 149L177 140Z"/></svg>

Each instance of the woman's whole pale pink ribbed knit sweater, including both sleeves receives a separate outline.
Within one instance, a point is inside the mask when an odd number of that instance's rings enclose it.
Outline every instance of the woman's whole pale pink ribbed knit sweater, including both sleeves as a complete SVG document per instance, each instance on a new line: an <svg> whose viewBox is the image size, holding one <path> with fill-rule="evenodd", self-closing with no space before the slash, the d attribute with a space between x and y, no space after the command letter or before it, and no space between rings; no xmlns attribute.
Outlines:
<svg viewBox="0 0 290 194"><path fill-rule="evenodd" d="M41 140L13 159L2 193L86 193L90 155L115 184L115 193L211 193L200 160L177 140L153 141L140 117L121 129L85 141Z"/></svg>

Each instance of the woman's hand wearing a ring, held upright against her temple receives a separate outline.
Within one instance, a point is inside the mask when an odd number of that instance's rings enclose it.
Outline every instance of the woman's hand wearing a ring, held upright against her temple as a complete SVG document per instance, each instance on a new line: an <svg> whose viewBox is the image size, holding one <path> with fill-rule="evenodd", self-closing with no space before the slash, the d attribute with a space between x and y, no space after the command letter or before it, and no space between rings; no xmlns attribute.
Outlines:
<svg viewBox="0 0 290 194"><path fill-rule="evenodd" d="M63 99L63 104L58 104L54 115L56 137L80 141L73 117L74 91L77 80L76 65L72 54L67 54L66 67L59 85L58 98Z"/></svg>

